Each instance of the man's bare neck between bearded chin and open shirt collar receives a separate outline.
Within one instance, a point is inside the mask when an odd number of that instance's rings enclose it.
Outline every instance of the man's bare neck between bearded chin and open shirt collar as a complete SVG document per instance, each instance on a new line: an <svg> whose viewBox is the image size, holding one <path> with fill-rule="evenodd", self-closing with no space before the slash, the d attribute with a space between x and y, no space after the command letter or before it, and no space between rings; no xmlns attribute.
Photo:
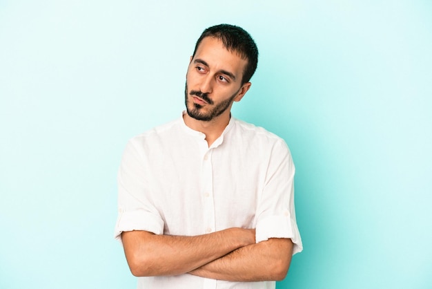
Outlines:
<svg viewBox="0 0 432 289"><path fill-rule="evenodd" d="M206 141L208 147L210 147L219 136L222 135L224 129L230 122L230 111L227 110L227 113L222 113L222 115L213 118L210 121L203 120L195 120L195 118L191 118L188 113L184 113L183 115L184 123L193 129L194 131L202 132L206 135Z"/></svg>

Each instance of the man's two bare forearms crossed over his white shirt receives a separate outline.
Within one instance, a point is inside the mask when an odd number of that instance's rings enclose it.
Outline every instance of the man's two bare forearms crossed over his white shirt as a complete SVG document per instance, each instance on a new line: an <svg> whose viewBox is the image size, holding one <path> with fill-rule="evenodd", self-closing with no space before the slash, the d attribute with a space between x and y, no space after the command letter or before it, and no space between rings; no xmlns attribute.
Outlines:
<svg viewBox="0 0 432 289"><path fill-rule="evenodd" d="M230 228L199 236L121 234L135 276L194 274L227 281L277 281L288 272L291 239L255 243L255 230Z"/></svg>

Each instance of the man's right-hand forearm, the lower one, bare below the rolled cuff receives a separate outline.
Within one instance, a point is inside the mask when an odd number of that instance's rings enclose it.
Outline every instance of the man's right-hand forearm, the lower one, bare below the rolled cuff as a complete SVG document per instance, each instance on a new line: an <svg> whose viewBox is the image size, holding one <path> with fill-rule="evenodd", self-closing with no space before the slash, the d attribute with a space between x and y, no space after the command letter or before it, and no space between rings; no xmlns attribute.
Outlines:
<svg viewBox="0 0 432 289"><path fill-rule="evenodd" d="M269 239L239 248L190 274L226 281L278 281L285 278L292 255L291 239Z"/></svg>

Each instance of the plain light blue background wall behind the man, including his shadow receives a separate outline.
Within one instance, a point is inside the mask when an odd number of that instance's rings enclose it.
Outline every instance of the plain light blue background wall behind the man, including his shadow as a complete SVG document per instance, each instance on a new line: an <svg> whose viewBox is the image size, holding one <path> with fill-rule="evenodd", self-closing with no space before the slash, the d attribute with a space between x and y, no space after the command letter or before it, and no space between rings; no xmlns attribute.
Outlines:
<svg viewBox="0 0 432 289"><path fill-rule="evenodd" d="M135 288L112 239L121 153L179 117L219 23L260 50L233 114L297 167L304 252L277 288L432 288L431 16L426 0L0 0L0 288Z"/></svg>

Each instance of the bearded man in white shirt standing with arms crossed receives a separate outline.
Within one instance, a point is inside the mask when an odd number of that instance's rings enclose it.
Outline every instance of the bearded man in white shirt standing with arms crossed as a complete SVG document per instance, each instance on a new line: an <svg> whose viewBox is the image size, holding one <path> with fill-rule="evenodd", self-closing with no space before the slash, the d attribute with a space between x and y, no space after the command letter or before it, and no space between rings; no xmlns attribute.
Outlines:
<svg viewBox="0 0 432 289"><path fill-rule="evenodd" d="M204 30L186 112L128 142L116 236L138 288L275 288L302 250L288 147L230 115L257 56L242 28Z"/></svg>

